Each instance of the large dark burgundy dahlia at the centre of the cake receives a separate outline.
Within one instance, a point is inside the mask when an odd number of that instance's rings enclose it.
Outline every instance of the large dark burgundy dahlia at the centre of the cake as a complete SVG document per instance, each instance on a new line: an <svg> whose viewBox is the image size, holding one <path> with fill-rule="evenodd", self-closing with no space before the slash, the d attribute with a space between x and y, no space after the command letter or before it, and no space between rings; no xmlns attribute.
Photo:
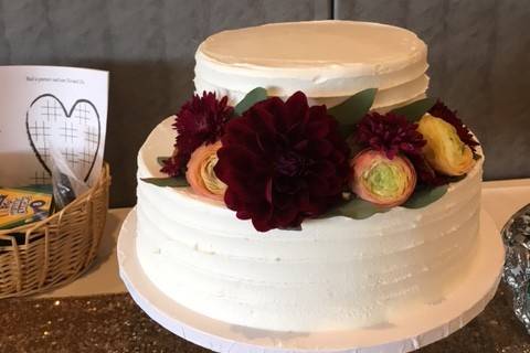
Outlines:
<svg viewBox="0 0 530 353"><path fill-rule="evenodd" d="M295 93L254 105L226 125L214 171L224 201L257 231L298 227L341 199L349 149L326 106Z"/></svg>

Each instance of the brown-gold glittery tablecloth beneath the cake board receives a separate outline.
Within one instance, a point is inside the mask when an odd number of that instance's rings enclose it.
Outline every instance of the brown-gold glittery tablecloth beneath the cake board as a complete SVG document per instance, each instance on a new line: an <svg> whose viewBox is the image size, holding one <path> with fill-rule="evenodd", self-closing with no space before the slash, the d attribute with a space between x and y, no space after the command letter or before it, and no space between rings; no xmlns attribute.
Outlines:
<svg viewBox="0 0 530 353"><path fill-rule="evenodd" d="M464 329L421 353L530 353L530 335L511 312L501 286ZM149 319L124 295L0 300L0 352L205 353Z"/></svg>

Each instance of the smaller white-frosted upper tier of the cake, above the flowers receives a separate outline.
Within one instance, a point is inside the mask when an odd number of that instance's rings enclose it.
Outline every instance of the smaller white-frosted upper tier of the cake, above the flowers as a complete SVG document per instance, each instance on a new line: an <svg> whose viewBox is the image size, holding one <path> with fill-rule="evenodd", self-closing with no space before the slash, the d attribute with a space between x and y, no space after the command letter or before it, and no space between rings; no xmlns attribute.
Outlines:
<svg viewBox="0 0 530 353"><path fill-rule="evenodd" d="M333 106L379 88L374 108L422 97L428 86L425 43L396 26L351 21L276 23L224 31L195 54L195 89L232 104L255 87L286 97L303 90Z"/></svg>

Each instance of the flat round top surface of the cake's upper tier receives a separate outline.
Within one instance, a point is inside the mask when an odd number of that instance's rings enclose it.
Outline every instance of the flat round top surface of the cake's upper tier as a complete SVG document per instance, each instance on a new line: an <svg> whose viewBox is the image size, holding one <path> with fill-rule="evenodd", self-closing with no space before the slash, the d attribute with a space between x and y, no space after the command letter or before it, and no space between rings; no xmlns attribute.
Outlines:
<svg viewBox="0 0 530 353"><path fill-rule="evenodd" d="M223 31L208 38L199 51L227 65L274 69L344 65L373 73L424 60L426 45L413 32L392 25L314 21Z"/></svg>

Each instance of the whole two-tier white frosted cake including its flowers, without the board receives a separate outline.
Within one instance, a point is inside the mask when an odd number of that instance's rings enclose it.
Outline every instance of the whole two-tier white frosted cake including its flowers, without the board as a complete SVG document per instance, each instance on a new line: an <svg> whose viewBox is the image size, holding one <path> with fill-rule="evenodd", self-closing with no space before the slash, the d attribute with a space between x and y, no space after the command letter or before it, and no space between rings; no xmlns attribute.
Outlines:
<svg viewBox="0 0 530 353"><path fill-rule="evenodd" d="M443 300L474 256L484 158L426 98L426 55L414 33L364 22L208 38L198 95L138 154L152 284L275 331L380 325Z"/></svg>

